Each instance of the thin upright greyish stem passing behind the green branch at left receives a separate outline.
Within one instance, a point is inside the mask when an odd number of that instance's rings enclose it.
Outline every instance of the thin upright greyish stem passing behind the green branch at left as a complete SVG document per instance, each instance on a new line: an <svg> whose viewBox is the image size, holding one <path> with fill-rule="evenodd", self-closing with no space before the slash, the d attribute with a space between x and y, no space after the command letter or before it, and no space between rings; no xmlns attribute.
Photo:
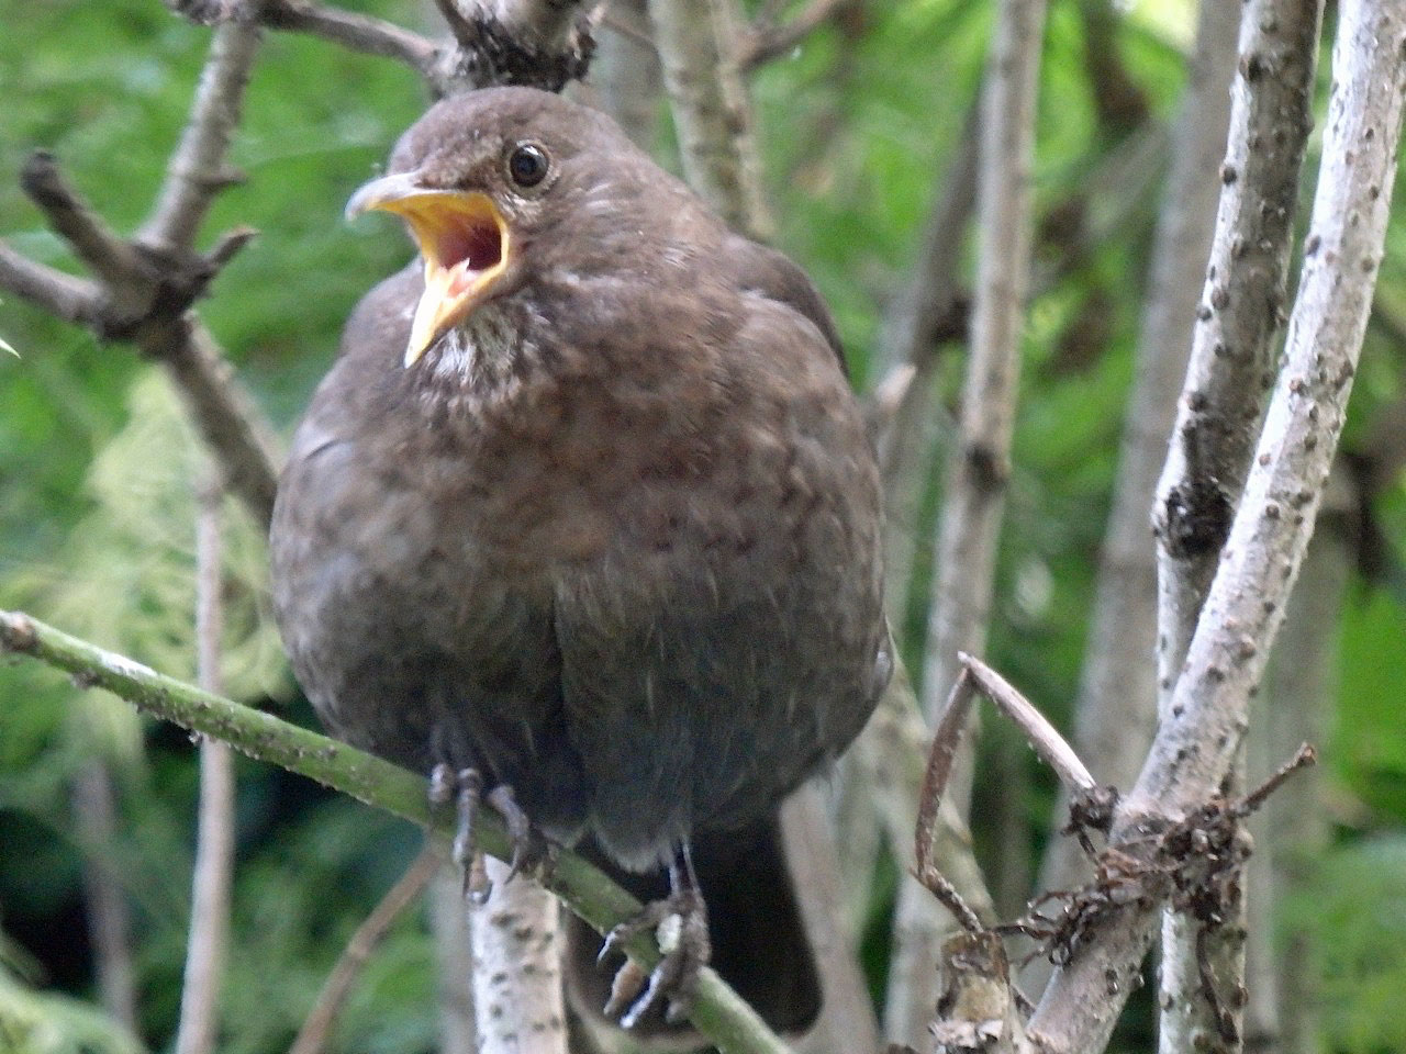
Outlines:
<svg viewBox="0 0 1406 1054"><path fill-rule="evenodd" d="M195 668L200 686L222 691L219 638L224 587L219 502L214 479L200 485L195 521ZM191 878L190 936L181 985L177 1054L211 1054L219 1022L219 988L229 944L229 897L235 859L235 759L229 743L200 745L200 808Z"/></svg>

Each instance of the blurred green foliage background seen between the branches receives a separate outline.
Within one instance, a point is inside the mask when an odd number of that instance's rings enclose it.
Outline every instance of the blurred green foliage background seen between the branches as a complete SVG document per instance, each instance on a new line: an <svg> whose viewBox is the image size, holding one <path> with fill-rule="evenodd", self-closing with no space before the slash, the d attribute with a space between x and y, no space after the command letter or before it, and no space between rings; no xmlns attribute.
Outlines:
<svg viewBox="0 0 1406 1054"><path fill-rule="evenodd" d="M1194 8L1132 3L1118 55L1146 117L1099 107L1088 73L1088 6L1054 0L1040 87L1035 194L1038 295L990 658L1054 718L1067 718L1085 648L1095 561L1132 374L1164 139L1185 79ZM352 4L433 28L425 7ZM904 287L936 177L960 139L990 30L983 0L856 4L752 80L776 242L828 298L856 384L876 379L882 320ZM1119 8L1122 10L1122 8ZM1331 13L1330 13L1331 22ZM0 0L0 238L76 270L18 190L27 155L48 149L122 232L141 222L184 124L209 31L156 0ZM1324 51L1323 65L1327 65ZM1326 73L1320 76L1326 84ZM1105 100L1107 101L1107 100ZM232 149L240 186L222 194L202 245L260 230L200 311L243 382L287 434L326 370L352 305L409 257L389 225L340 219L347 194L382 162L426 96L408 70L321 41L269 34ZM658 155L675 164L666 110ZM1139 146L1143 143L1143 146ZM1316 139L1309 170L1316 169ZM1140 150L1140 153L1139 153ZM1122 163L1142 157L1135 164ZM676 167L676 164L675 164ZM1107 186L1101 181L1107 180ZM1399 195L1398 195L1398 200ZM1305 207L1308 193L1305 194ZM1398 209L1403 212L1403 209ZM1062 222L1105 236L1071 254ZM1406 214L1406 212L1403 212ZM1092 218L1091 218L1092 216ZM1406 222L1392 225L1378 315L1357 381L1347 445L1406 396ZM0 294L0 607L191 677L194 488L202 455L160 371L124 346ZM955 393L960 354L945 361ZM942 458L934 458L941 467ZM936 469L924 519L931 537ZM1339 698L1323 745L1331 850L1315 894L1284 919L1329 942L1323 1048L1406 1050L1406 489L1372 509L1372 575L1354 575L1341 617ZM263 599L262 540L229 506L226 687L314 722L283 663ZM931 548L927 541L920 549ZM911 589L908 639L922 641L925 559ZM915 659L910 648L910 661ZM921 663L911 663L920 669ZM118 790L117 835L98 849L75 822L72 787L94 760ZM979 770L980 772L980 770ZM980 777L979 777L980 779ZM1053 788L1033 767L1022 790L1029 852L1047 829ZM190 901L195 753L187 736L138 718L28 663L0 666L0 1050L165 1050L179 1009ZM990 860L1001 832L976 833ZM408 826L301 779L240 760L235 944L221 1050L285 1050L346 937L413 854ZM94 853L131 898L139 1036L97 1006L84 925ZM887 954L891 873L875 892L866 942L876 991ZM370 963L337 1029L337 1048L420 1051L436 1043L433 951L411 916ZM14 1022L46 1022L14 1030ZM1135 1013L1119 1043L1146 1048Z"/></svg>

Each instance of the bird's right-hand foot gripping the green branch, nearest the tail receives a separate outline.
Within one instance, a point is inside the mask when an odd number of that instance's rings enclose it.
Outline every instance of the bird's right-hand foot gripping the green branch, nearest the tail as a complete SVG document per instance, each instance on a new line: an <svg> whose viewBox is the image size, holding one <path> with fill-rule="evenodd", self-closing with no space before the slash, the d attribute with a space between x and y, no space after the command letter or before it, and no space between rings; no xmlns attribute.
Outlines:
<svg viewBox="0 0 1406 1054"><path fill-rule="evenodd" d="M628 958L616 971L605 1013L607 1017L619 1016L626 1029L640 1022L661 999L666 1001L664 1019L671 1024L693 1009L699 972L707 965L711 944L707 936L707 908L692 877L692 866L686 874L688 878L681 883L676 868L671 867L673 891L662 901L651 901L638 915L612 929L600 946L599 958L603 960L640 933L654 930L662 953L659 964L650 974ZM640 995L641 989L644 995Z"/></svg>

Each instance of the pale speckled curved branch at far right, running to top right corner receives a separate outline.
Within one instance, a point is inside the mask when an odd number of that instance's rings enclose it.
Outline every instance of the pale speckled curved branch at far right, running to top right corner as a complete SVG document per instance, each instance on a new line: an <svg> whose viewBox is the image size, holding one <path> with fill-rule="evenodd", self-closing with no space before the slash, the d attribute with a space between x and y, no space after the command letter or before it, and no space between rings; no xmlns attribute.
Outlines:
<svg viewBox="0 0 1406 1054"><path fill-rule="evenodd" d="M1250 693L1313 531L1361 354L1396 171L1403 39L1399 7L1340 6L1334 90L1285 365L1185 672L1142 777L1123 800L1114 847L1132 847L1167 818L1209 801L1236 756ZM1056 1053L1101 1050L1153 918L1146 904L1112 908L1056 972L1031 1020L1032 1039ZM1095 998L1099 992L1108 998Z"/></svg>

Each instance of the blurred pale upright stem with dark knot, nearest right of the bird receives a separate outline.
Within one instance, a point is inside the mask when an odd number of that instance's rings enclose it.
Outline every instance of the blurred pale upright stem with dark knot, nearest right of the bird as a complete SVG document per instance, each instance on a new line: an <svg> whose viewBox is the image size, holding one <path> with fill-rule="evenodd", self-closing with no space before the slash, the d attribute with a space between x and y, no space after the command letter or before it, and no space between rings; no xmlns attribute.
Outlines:
<svg viewBox="0 0 1406 1054"><path fill-rule="evenodd" d="M980 655L986 648L1029 281L1029 171L1043 24L1043 0L1002 0L981 94L981 233L962 420L936 542L922 676L922 713L929 721L956 680L957 652ZM959 815L969 797L960 784L969 781L967 774L953 790ZM939 935L932 932L929 899L912 880L898 888L884 1010L884 1034L894 1043L921 1043L936 1008Z"/></svg>

